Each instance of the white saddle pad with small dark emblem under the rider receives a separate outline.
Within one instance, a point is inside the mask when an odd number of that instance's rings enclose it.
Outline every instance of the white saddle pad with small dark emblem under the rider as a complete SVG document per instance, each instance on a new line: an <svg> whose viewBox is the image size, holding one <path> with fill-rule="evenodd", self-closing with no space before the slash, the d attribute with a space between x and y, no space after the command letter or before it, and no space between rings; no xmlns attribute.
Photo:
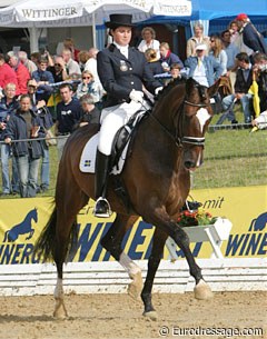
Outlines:
<svg viewBox="0 0 267 339"><path fill-rule="evenodd" d="M96 172L96 156L97 156L97 147L98 147L99 132L95 134L91 139L86 143L81 158L80 158L80 171L86 173L95 173ZM115 166L111 170L112 175L119 175L125 164L125 159L127 154L129 142L126 144L118 166Z"/></svg>

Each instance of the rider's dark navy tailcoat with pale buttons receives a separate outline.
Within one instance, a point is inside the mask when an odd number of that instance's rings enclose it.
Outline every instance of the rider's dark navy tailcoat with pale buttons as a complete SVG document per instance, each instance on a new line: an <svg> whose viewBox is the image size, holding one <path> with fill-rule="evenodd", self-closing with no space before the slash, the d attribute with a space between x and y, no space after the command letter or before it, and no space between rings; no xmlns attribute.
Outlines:
<svg viewBox="0 0 267 339"><path fill-rule="evenodd" d="M134 47L129 47L128 59L111 43L97 54L97 68L100 81L107 91L106 107L129 102L132 89L141 91L142 84L154 93L161 83L154 79L146 57Z"/></svg>

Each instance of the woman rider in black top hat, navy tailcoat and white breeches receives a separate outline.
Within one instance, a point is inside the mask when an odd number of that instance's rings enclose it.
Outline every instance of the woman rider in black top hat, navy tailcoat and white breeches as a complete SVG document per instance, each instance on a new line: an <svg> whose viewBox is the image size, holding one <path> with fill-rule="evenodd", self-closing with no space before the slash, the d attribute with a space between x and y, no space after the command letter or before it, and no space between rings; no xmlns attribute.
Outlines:
<svg viewBox="0 0 267 339"><path fill-rule="evenodd" d="M107 91L107 101L101 113L96 159L96 217L110 216L106 188L110 170L109 156L116 132L142 107L144 86L156 94L162 88L154 79L145 54L129 47L134 27L131 19L131 14L110 14L106 27L113 42L97 54L98 74Z"/></svg>

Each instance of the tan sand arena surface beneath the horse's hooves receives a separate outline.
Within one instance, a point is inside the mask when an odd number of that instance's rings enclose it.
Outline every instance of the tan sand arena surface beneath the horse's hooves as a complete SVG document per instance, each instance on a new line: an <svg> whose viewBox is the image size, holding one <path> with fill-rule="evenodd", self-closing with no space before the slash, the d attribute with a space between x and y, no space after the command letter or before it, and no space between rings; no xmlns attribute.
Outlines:
<svg viewBox="0 0 267 339"><path fill-rule="evenodd" d="M208 301L192 293L154 295L158 320L142 317L142 302L127 295L70 295L69 318L52 318L53 297L0 297L1 339L88 338L267 338L267 292L216 292ZM166 335L167 327L169 335ZM177 328L264 328L263 336L177 336ZM175 332L172 332L175 331Z"/></svg>

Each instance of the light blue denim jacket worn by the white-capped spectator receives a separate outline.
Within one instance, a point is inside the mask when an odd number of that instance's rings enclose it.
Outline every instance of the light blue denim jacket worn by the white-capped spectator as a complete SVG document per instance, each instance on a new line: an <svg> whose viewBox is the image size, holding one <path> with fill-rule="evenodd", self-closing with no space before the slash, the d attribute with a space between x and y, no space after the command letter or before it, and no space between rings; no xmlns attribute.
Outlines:
<svg viewBox="0 0 267 339"><path fill-rule="evenodd" d="M220 63L211 56L205 56L202 60L204 67L206 69L206 77L209 87L215 83L215 81L221 76L224 69ZM185 66L189 68L188 78L194 78L195 69L198 66L197 57L189 57L185 61Z"/></svg>

